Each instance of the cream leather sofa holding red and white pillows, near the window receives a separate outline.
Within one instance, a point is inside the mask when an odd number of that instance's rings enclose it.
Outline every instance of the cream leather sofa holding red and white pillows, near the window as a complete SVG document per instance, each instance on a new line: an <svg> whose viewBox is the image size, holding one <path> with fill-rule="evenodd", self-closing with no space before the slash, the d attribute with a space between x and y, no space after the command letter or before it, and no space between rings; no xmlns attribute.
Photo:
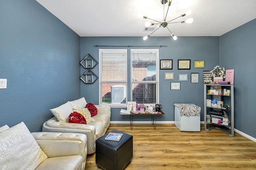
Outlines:
<svg viewBox="0 0 256 170"><path fill-rule="evenodd" d="M86 100L80 98L50 109L54 117L43 124L42 131L85 134L87 136L88 154L94 153L96 139L102 137L110 125L111 109L109 106L95 105L98 113L92 117L95 120L94 122L87 124L68 123L68 115L73 112L73 109L84 108L86 104Z"/></svg>

